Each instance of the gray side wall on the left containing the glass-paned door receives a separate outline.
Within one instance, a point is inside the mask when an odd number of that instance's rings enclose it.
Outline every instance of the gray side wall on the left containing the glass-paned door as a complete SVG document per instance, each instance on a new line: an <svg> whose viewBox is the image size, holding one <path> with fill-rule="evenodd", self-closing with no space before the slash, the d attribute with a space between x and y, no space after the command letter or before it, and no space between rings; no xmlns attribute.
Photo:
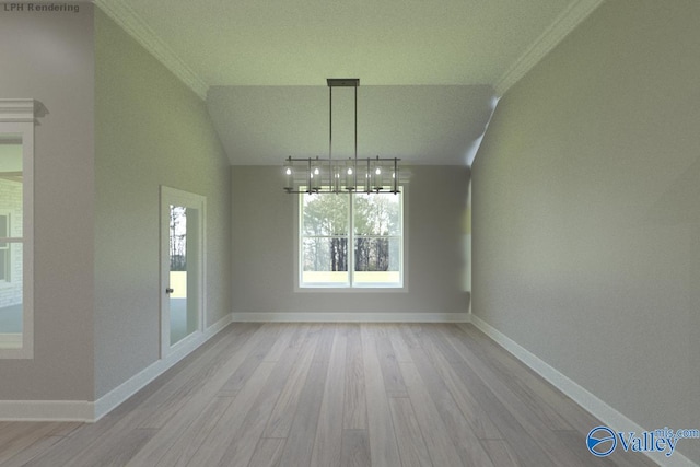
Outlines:
<svg viewBox="0 0 700 467"><path fill-rule="evenodd" d="M231 173L205 103L95 16L95 392L159 359L159 186L207 197L208 326L231 312Z"/></svg>

